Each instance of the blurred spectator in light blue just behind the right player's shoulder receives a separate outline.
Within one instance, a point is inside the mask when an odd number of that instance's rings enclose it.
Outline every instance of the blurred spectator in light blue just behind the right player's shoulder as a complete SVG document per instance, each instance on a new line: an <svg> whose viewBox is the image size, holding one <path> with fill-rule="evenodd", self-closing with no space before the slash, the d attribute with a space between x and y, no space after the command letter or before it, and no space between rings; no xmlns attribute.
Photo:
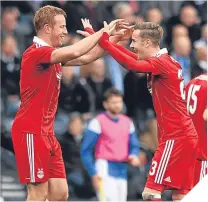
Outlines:
<svg viewBox="0 0 208 202"><path fill-rule="evenodd" d="M191 80L191 41L188 37L177 37L173 41L173 58L182 67L185 84Z"/></svg>

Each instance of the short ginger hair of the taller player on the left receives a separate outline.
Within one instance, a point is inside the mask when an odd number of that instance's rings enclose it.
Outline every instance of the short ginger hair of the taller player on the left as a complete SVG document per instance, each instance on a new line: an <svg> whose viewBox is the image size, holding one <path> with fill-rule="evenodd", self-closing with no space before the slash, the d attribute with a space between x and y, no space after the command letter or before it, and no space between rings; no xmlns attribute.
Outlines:
<svg viewBox="0 0 208 202"><path fill-rule="evenodd" d="M34 17L34 25L36 32L43 28L45 24L53 25L54 17L56 15L63 15L65 18L67 17L66 13L61 8L49 5L40 8L35 13Z"/></svg>

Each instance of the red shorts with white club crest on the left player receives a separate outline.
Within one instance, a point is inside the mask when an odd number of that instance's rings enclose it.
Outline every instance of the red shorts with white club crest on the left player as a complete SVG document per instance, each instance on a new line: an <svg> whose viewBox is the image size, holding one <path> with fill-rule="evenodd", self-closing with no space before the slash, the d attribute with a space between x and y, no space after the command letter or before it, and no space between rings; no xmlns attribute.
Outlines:
<svg viewBox="0 0 208 202"><path fill-rule="evenodd" d="M21 183L66 178L61 147L55 135L41 136L13 130L12 141Z"/></svg>

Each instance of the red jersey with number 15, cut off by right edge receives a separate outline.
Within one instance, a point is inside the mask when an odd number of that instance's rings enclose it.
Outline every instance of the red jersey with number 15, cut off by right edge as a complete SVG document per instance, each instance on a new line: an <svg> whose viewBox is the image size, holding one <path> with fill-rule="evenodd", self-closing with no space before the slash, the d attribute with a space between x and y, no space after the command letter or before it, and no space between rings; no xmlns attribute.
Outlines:
<svg viewBox="0 0 208 202"><path fill-rule="evenodd" d="M203 119L207 108L207 74L192 79L186 86L187 109L199 137L199 158L207 159L207 123Z"/></svg>

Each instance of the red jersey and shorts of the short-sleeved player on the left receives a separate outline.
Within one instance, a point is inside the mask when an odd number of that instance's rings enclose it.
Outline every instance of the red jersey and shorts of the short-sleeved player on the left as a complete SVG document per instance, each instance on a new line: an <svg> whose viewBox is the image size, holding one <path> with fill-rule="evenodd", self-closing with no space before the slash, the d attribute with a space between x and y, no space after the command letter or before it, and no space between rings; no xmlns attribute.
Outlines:
<svg viewBox="0 0 208 202"><path fill-rule="evenodd" d="M65 178L54 119L60 92L61 66L50 64L54 48L34 37L23 54L21 105L12 125L12 140L21 183Z"/></svg>

